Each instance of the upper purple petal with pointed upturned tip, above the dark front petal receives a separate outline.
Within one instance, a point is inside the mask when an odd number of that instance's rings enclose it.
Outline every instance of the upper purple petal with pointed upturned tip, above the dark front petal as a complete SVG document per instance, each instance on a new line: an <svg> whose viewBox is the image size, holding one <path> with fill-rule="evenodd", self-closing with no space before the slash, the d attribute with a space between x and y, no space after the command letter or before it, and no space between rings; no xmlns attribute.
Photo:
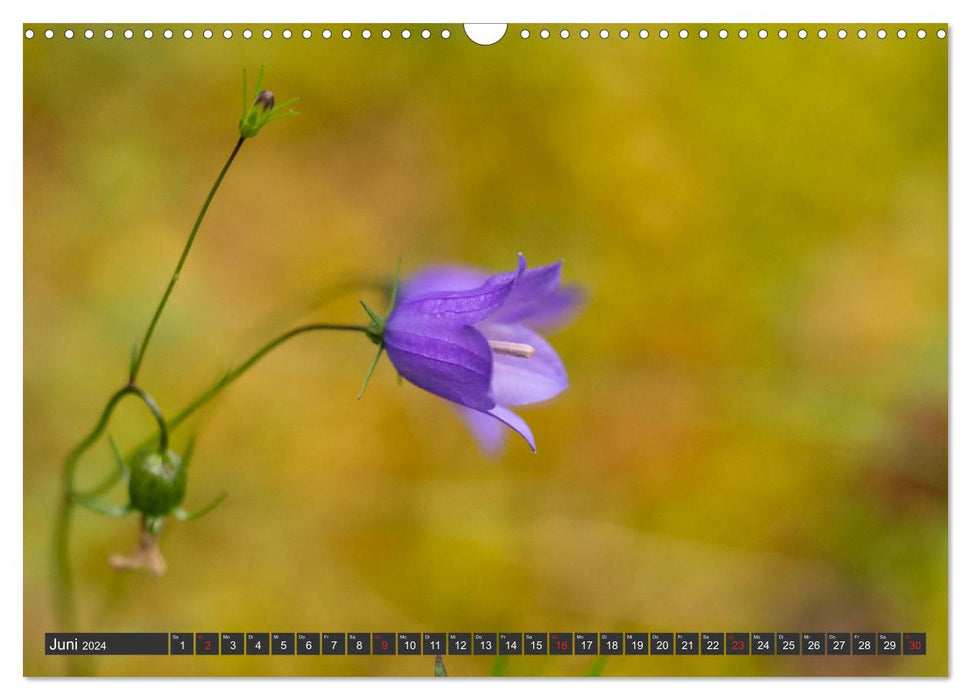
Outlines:
<svg viewBox="0 0 971 700"><path fill-rule="evenodd" d="M526 269L526 259L519 256L515 272L493 275L475 289L432 292L397 304L388 319L388 325L405 326L412 319L435 319L442 323L472 324L482 321L505 303L516 280Z"/></svg>

